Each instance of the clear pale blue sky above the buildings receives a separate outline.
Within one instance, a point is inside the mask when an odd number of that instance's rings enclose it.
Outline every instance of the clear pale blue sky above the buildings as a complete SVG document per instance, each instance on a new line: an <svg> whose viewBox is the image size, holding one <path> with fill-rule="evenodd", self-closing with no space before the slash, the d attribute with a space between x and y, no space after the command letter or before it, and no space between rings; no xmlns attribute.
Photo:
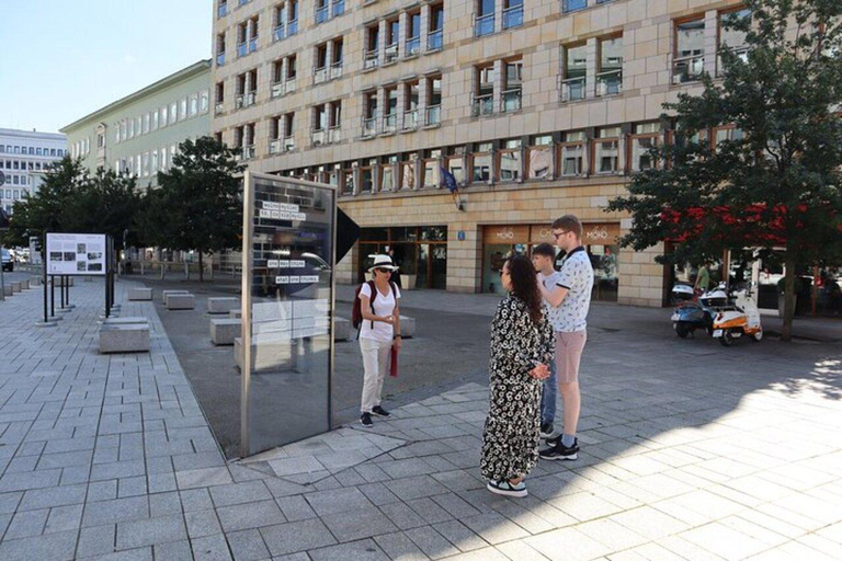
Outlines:
<svg viewBox="0 0 842 561"><path fill-rule="evenodd" d="M210 58L213 0L0 3L0 127L56 133Z"/></svg>

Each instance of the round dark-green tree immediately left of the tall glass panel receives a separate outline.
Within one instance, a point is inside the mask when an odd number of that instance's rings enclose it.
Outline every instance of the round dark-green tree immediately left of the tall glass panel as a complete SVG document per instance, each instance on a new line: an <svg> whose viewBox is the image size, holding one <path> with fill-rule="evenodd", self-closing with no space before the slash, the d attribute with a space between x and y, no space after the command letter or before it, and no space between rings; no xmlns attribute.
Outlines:
<svg viewBox="0 0 842 561"><path fill-rule="evenodd" d="M198 253L200 280L202 255L240 244L242 232L241 179L246 167L235 160L237 151L210 137L179 145L173 165L158 173L160 193L152 205L167 208L169 243L180 251Z"/></svg>

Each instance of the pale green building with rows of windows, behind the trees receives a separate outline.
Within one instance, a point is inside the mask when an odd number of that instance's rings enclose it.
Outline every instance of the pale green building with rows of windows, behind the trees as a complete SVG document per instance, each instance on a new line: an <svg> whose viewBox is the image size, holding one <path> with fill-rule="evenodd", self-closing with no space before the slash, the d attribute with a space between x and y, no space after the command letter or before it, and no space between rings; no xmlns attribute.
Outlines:
<svg viewBox="0 0 842 561"><path fill-rule="evenodd" d="M137 175L155 185L179 142L210 131L210 60L200 60L61 129L68 150L91 171Z"/></svg>

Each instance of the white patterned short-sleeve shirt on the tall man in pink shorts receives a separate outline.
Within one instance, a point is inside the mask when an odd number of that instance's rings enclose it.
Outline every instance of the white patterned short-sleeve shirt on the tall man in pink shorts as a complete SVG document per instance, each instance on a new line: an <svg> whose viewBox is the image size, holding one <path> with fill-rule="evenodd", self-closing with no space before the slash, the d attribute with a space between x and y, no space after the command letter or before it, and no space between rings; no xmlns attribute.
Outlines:
<svg viewBox="0 0 842 561"><path fill-rule="evenodd" d="M588 327L593 289L593 266L584 248L580 245L567 254L556 284L568 291L555 314L554 328L564 333L583 331Z"/></svg>

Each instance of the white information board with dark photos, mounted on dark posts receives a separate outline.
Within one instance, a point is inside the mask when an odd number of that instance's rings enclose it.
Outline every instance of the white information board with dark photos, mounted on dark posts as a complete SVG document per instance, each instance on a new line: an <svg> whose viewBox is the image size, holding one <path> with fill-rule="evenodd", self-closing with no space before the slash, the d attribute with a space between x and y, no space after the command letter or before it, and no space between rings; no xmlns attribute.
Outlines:
<svg viewBox="0 0 842 561"><path fill-rule="evenodd" d="M105 275L104 233L47 233L48 275Z"/></svg>

